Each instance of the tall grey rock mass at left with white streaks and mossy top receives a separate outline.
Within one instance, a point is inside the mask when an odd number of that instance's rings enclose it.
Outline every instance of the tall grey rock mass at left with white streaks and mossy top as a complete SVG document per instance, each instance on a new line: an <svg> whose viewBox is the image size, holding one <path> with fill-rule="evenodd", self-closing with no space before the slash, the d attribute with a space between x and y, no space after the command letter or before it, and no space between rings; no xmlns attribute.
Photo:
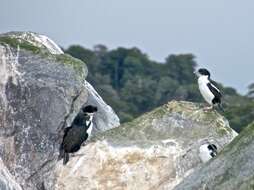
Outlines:
<svg viewBox="0 0 254 190"><path fill-rule="evenodd" d="M97 131L119 125L86 75L45 36L0 35L0 157L23 189L53 189L62 131L82 105L98 106Z"/></svg>

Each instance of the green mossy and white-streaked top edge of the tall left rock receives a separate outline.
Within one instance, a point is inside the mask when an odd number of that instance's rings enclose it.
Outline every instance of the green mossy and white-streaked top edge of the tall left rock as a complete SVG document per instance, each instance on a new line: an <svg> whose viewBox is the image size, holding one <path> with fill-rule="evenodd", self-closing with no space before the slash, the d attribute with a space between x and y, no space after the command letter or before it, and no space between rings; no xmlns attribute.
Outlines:
<svg viewBox="0 0 254 190"><path fill-rule="evenodd" d="M72 67L80 80L85 80L87 68L84 62L64 54L63 51L46 36L31 32L10 32L0 35L0 44L9 49L31 52L41 59L48 59L49 62L63 64Z"/></svg>

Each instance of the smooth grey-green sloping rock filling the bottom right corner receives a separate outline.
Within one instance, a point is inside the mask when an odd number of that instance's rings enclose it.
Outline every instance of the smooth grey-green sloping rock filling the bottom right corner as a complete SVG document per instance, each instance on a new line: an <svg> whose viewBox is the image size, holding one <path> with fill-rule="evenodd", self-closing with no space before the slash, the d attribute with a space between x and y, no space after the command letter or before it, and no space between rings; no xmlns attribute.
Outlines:
<svg viewBox="0 0 254 190"><path fill-rule="evenodd" d="M213 160L183 180L175 190L253 190L254 123Z"/></svg>

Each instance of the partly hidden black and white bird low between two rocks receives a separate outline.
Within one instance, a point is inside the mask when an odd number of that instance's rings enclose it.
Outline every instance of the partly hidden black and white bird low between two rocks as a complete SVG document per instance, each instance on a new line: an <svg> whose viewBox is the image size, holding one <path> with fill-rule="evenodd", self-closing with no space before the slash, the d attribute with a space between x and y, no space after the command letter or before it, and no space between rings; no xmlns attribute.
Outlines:
<svg viewBox="0 0 254 190"><path fill-rule="evenodd" d="M217 156L218 151L215 144L206 143L199 148L199 158L202 162L207 162L211 158Z"/></svg>

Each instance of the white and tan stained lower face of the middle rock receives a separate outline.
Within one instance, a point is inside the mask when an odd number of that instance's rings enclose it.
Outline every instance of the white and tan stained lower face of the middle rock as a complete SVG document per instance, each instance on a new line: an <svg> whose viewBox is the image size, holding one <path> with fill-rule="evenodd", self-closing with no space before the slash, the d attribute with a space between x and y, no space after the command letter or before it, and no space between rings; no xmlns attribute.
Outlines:
<svg viewBox="0 0 254 190"><path fill-rule="evenodd" d="M56 190L159 189L175 181L178 151L175 144L143 149L91 143L66 167L58 166Z"/></svg>

